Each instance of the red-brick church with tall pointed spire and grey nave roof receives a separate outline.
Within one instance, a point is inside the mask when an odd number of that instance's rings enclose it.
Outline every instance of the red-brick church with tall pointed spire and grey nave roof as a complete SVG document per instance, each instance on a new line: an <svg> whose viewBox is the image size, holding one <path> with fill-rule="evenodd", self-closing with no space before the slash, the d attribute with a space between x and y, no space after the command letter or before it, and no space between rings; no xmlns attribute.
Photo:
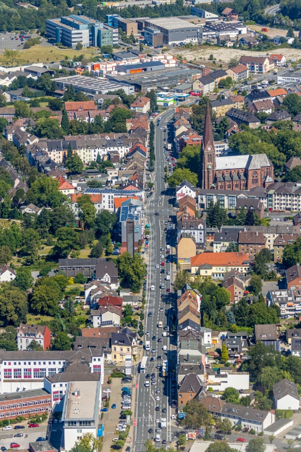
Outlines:
<svg viewBox="0 0 301 452"><path fill-rule="evenodd" d="M274 167L266 154L216 157L209 103L207 102L201 145L201 188L249 190L274 182Z"/></svg>

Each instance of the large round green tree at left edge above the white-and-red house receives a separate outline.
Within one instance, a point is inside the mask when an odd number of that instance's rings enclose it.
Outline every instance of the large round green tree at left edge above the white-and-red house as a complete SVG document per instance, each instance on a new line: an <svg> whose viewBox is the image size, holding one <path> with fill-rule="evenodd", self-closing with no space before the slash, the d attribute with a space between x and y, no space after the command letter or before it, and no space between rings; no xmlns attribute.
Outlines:
<svg viewBox="0 0 301 452"><path fill-rule="evenodd" d="M26 323L27 295L18 287L5 287L0 292L0 324L3 326Z"/></svg>

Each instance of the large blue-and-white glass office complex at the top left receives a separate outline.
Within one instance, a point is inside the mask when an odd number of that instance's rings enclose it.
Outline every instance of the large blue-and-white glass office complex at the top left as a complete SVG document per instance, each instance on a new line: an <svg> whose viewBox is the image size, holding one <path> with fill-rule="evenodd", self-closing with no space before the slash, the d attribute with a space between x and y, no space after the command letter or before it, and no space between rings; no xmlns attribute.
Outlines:
<svg viewBox="0 0 301 452"><path fill-rule="evenodd" d="M46 33L48 38L61 42L67 47L76 47L81 42L83 47L99 45L99 30L103 23L86 16L62 16L58 19L46 20Z"/></svg>

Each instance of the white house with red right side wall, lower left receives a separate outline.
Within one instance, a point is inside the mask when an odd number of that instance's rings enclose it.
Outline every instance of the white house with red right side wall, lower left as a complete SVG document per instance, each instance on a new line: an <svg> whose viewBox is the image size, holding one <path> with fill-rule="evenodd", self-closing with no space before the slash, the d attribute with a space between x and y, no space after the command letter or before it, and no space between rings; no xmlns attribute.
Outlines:
<svg viewBox="0 0 301 452"><path fill-rule="evenodd" d="M50 349L50 330L47 325L21 323L17 333L18 350L26 350L35 340L43 350Z"/></svg>

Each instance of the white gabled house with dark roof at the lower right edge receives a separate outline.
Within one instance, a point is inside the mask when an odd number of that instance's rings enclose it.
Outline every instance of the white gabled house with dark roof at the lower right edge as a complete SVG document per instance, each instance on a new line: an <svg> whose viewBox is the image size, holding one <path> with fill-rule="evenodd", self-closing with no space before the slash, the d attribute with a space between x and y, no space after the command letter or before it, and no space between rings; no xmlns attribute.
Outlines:
<svg viewBox="0 0 301 452"><path fill-rule="evenodd" d="M287 378L274 384L273 396L277 410L299 410L300 397L297 385Z"/></svg>

